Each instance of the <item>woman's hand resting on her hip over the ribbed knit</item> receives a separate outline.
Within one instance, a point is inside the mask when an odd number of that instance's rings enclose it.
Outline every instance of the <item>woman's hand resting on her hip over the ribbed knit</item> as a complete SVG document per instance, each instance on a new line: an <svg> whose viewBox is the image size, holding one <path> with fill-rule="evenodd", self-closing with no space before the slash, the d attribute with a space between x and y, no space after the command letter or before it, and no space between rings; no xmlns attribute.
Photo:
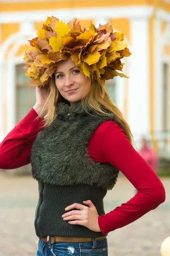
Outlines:
<svg viewBox="0 0 170 256"><path fill-rule="evenodd" d="M96 210L96 207L90 200L83 201L83 204L88 205L88 207L77 203L71 204L68 207L66 207L65 211L75 208L78 210L73 210L63 214L63 220L68 221L69 224L82 225L87 227L89 230L101 232L98 224L99 215Z"/></svg>

